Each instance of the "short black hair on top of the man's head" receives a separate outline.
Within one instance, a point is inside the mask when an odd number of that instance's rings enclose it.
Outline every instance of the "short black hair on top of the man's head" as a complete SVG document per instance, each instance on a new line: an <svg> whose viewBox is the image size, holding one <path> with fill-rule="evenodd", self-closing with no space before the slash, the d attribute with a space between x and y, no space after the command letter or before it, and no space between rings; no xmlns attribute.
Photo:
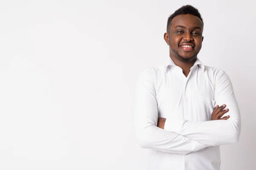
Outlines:
<svg viewBox="0 0 256 170"><path fill-rule="evenodd" d="M169 16L168 21L167 21L167 28L166 31L169 32L169 26L172 23L172 19L178 15L185 15L185 14L192 14L197 16L203 23L204 26L204 21L201 17L201 14L199 13L198 9L195 8L194 6L191 5L186 5L178 8L172 15Z"/></svg>

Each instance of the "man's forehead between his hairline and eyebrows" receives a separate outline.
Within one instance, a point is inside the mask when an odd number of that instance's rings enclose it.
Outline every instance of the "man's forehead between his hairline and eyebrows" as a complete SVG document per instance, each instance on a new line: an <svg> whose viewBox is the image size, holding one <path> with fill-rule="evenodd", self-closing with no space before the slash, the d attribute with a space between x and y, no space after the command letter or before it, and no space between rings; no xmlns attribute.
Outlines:
<svg viewBox="0 0 256 170"><path fill-rule="evenodd" d="M171 28L175 26L184 26L186 28L200 27L203 28L203 23L199 17L191 14L178 15L172 19Z"/></svg>

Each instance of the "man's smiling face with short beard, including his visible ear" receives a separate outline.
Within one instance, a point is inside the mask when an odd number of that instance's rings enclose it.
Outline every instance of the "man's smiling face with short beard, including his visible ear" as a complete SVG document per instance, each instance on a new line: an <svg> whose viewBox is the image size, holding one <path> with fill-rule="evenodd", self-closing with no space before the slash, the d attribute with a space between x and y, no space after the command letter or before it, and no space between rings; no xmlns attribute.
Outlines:
<svg viewBox="0 0 256 170"><path fill-rule="evenodd" d="M195 15L178 15L172 19L164 38L170 46L170 57L189 61L197 58L204 37L203 23Z"/></svg>

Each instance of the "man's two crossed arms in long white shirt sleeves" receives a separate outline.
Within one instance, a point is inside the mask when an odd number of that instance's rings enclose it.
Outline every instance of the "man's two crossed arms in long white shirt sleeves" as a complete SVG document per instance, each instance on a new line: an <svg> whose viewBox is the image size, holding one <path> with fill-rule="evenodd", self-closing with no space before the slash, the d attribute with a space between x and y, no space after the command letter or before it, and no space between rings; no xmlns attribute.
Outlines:
<svg viewBox="0 0 256 170"><path fill-rule="evenodd" d="M240 112L227 74L221 72L217 75L215 87L216 104L225 103L229 108L230 117L226 117L227 120L192 122L177 118L166 119L164 129L157 127L154 81L154 70L145 71L140 75L136 88L134 126L141 147L187 154L204 147L238 141ZM216 109L220 110L215 108L215 112Z"/></svg>

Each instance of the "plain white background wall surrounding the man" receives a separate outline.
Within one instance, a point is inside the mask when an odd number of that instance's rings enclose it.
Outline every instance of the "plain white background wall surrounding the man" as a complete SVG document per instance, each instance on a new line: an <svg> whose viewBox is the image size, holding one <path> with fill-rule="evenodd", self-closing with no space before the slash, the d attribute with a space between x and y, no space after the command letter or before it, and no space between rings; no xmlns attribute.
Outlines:
<svg viewBox="0 0 256 170"><path fill-rule="evenodd" d="M222 170L254 170L253 2L1 0L0 169L145 170L132 129L135 82L169 57L167 18L191 4L204 19L198 58L226 71L241 109L240 140L221 146Z"/></svg>

